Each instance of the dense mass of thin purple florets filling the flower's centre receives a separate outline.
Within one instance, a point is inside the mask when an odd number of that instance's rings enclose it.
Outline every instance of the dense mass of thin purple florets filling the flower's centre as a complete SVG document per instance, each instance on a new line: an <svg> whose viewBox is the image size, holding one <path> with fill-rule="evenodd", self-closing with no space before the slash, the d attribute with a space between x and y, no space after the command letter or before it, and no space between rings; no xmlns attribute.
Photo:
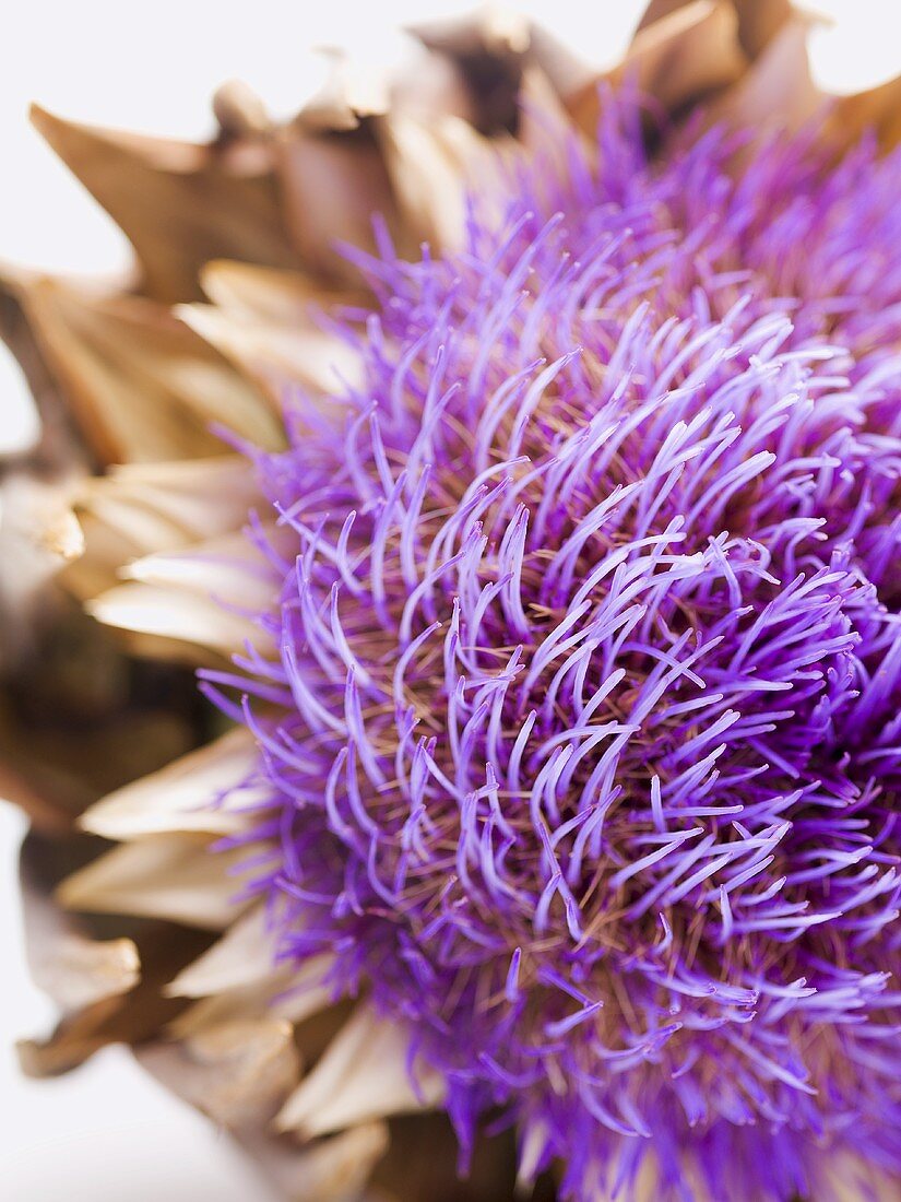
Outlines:
<svg viewBox="0 0 901 1202"><path fill-rule="evenodd" d="M566 157L452 257L357 255L363 383L255 456L252 888L464 1153L490 1115L581 1202L863 1198L901 1170L901 157L649 165L625 102Z"/></svg>

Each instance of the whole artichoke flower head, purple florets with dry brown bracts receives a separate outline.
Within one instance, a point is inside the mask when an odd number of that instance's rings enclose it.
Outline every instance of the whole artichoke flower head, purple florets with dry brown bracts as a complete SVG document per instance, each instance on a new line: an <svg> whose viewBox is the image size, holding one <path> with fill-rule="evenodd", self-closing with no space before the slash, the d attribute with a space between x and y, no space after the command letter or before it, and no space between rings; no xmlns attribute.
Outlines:
<svg viewBox="0 0 901 1202"><path fill-rule="evenodd" d="M126 1042L309 1202L893 1196L897 87L807 30L36 113L136 269L4 285L26 1069Z"/></svg>

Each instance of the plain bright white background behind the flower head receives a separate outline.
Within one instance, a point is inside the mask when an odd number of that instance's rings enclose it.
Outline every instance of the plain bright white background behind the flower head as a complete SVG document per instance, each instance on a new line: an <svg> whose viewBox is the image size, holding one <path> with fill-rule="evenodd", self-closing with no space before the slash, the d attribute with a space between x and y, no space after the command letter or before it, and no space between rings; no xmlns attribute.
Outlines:
<svg viewBox="0 0 901 1202"><path fill-rule="evenodd" d="M466 12L453 0L30 0L4 13L0 48L0 260L61 272L107 272L127 248L30 130L37 100L65 115L148 132L204 137L209 96L250 83L276 115L311 94L317 44L350 44L374 61L404 53L396 26ZM633 0L523 0L565 41L614 59ZM836 89L901 69L899 0L831 0L841 24L816 43L816 70ZM17 369L0 347L0 453L34 438ZM0 565L2 570L2 565ZM16 887L22 821L0 801L0 1196L4 1202L270 1202L223 1136L150 1082L118 1048L70 1077L20 1078L16 1037L53 1013L28 980Z"/></svg>

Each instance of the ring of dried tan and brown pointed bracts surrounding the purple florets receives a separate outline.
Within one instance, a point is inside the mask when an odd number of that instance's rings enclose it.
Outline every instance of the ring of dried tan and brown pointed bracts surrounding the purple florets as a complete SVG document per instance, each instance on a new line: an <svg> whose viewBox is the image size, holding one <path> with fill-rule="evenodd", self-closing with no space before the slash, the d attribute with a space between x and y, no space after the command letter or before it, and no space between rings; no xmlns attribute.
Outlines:
<svg viewBox="0 0 901 1202"><path fill-rule="evenodd" d="M219 135L202 145L35 109L130 238L135 269L115 286L24 270L0 282L2 332L43 422L32 460L0 477L11 582L0 603L17 631L2 657L1 783L32 816L30 956L62 1016L49 1039L23 1046L26 1071L59 1072L105 1043L131 1043L288 1198L512 1196L508 1143L479 1153L464 1188L444 1119L398 1119L437 1106L443 1083L419 1066L413 1090L404 1028L365 1000L333 1004L320 983L330 957L300 974L276 968L262 909L234 900L235 856L210 853L247 821L239 803L209 802L252 775L253 743L216 731L190 676L162 665L222 665L258 642L252 623L211 597L252 609L272 595L238 534L258 500L251 475L210 423L278 447L286 385L328 410L334 365L347 377L356 364L310 305L363 296L333 246L369 246L372 213L401 251L424 239L453 248L473 179L490 197L499 165L553 143L555 125L587 144L602 79L634 79L676 119L704 101L711 117L796 126L823 101L807 69L808 22L789 0L655 0L625 60L599 72L591 46L577 63L544 30L491 11L417 30L422 53L406 75L362 78L335 55L326 90L286 124L226 85L214 102ZM835 103L829 136L847 143L869 124L894 143L899 89ZM145 656L157 666L141 667ZM18 686L38 677L37 714L23 713ZM115 921L101 928L93 915ZM434 1152L417 1154L423 1143ZM532 1144L518 1197L531 1192ZM644 1186L652 1197L654 1182Z"/></svg>

